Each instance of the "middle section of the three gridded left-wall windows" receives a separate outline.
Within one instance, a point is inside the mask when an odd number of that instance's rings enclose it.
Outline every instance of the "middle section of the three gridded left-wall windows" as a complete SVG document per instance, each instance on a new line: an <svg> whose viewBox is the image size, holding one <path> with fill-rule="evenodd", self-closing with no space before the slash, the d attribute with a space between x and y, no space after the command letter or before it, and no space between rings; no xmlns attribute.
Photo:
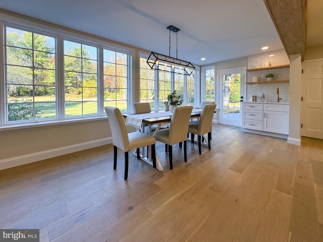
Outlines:
<svg viewBox="0 0 323 242"><path fill-rule="evenodd" d="M97 76L97 47L65 40L65 116L98 114Z"/></svg>

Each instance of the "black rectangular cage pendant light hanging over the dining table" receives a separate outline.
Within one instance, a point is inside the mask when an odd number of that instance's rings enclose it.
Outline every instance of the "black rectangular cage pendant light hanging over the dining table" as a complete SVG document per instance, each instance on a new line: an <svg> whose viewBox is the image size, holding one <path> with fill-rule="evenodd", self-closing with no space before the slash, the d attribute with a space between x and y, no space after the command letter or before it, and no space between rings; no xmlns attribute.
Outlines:
<svg viewBox="0 0 323 242"><path fill-rule="evenodd" d="M158 54L158 53L151 51L151 53L147 59L147 64L149 65L149 67L151 69L154 69L154 70L190 76L193 73L193 71L195 70L195 67L190 62L186 62L186 61L183 61L183 60L177 58L177 50L178 50L178 48L177 48L177 33L180 30L178 28L174 27L173 25L168 26L167 29L170 30L170 53L169 53L169 56L164 55L164 54ZM176 33L176 58L171 57L171 31ZM165 68L161 68L161 66L164 66Z"/></svg>

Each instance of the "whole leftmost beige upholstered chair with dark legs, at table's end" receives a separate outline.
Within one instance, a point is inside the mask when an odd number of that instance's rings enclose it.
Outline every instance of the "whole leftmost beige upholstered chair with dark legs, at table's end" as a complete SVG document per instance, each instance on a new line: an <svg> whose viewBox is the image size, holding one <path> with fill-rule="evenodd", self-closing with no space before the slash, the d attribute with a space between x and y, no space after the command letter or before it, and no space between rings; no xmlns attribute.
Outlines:
<svg viewBox="0 0 323 242"><path fill-rule="evenodd" d="M114 151L114 164L113 168L117 169L117 148L125 152L125 180L128 179L128 166L129 166L129 151L137 149L137 159L140 158L140 147L151 145L151 155L153 167L156 168L156 155L155 155L155 138L143 134L141 132L133 132L128 134L125 119L118 107L105 106L104 110L112 132L112 142Z"/></svg>

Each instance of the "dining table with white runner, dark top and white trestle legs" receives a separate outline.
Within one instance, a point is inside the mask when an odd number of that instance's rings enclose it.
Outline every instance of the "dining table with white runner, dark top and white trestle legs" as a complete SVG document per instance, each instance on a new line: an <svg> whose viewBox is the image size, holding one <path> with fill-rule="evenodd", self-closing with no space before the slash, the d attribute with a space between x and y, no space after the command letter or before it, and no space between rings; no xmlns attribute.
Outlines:
<svg viewBox="0 0 323 242"><path fill-rule="evenodd" d="M191 118L199 118L201 116L202 109L199 108L193 108L191 112ZM148 113L140 113L140 114L134 114L134 113L123 113L124 118L126 118L126 125L135 127L138 130L144 131L145 126L148 125L148 135L155 136L160 129L162 124L168 124L171 122L173 113L170 111L151 111ZM151 132L151 126L156 125L157 128L152 133ZM148 155L145 155L145 149L144 147L141 149L140 159L145 161L146 163L152 165L151 160L151 147L149 147L149 150L147 153ZM134 151L134 154L136 155L136 151ZM163 166L161 165L158 155L156 153L156 168L159 171L163 170Z"/></svg>

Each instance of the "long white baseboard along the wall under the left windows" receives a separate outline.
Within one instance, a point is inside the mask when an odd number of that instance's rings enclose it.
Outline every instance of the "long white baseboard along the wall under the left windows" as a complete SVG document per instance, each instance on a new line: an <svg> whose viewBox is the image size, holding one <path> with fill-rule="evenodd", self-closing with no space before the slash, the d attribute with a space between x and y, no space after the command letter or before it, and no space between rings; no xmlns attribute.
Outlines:
<svg viewBox="0 0 323 242"><path fill-rule="evenodd" d="M0 170L112 143L112 137L0 160Z"/></svg>

